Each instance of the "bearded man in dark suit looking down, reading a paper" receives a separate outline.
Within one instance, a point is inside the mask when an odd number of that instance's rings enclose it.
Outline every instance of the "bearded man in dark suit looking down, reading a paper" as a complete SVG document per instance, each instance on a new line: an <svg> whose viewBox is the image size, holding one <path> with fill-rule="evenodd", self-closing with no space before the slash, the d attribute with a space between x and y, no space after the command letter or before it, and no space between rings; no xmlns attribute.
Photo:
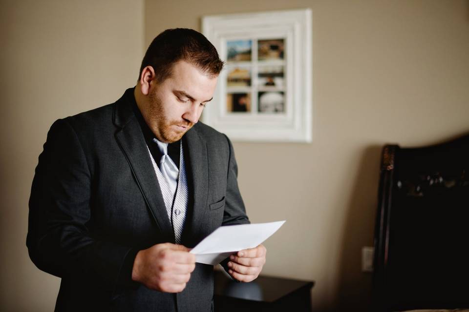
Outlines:
<svg viewBox="0 0 469 312"><path fill-rule="evenodd" d="M249 223L230 140L197 123L223 67L190 29L150 44L135 88L57 120L33 180L27 246L62 278L56 311L211 311L213 266L190 248ZM177 243L177 244L176 244ZM224 261L248 282L262 245Z"/></svg>

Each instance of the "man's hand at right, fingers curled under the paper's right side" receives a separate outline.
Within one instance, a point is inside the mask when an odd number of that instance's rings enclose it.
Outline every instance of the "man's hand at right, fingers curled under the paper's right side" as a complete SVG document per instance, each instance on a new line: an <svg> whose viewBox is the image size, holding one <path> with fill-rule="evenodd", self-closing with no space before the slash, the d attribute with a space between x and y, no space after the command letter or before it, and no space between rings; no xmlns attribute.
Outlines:
<svg viewBox="0 0 469 312"><path fill-rule="evenodd" d="M259 276L265 264L267 249L263 245L240 250L230 256L228 273L241 282L251 282Z"/></svg>

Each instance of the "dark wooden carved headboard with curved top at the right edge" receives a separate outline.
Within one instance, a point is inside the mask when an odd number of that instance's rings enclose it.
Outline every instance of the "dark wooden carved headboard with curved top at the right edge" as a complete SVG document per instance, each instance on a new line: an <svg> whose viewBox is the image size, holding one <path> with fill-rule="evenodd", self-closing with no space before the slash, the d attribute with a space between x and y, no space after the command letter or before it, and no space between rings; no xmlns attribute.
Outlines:
<svg viewBox="0 0 469 312"><path fill-rule="evenodd" d="M469 308L469 135L382 152L373 311Z"/></svg>

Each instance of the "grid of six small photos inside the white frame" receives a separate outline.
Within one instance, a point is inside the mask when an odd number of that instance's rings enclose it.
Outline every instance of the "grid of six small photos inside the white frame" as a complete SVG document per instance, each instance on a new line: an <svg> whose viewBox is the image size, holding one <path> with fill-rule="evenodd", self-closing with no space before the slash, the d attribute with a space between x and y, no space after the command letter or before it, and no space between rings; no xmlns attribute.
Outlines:
<svg viewBox="0 0 469 312"><path fill-rule="evenodd" d="M227 41L228 113L285 113L285 39Z"/></svg>

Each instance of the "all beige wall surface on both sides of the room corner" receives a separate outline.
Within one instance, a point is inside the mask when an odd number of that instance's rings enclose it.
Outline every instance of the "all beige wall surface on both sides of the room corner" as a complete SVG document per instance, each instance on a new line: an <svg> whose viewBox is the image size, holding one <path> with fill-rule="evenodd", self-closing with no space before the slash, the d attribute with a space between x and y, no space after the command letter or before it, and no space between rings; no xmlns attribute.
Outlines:
<svg viewBox="0 0 469 312"><path fill-rule="evenodd" d="M25 236L34 167L55 119L118 98L166 28L305 7L313 143L235 143L239 184L252 221L287 219L266 242L264 273L314 279L318 310L364 306L371 278L360 252L372 243L380 147L469 131L468 1L2 1L0 310L54 305L58 279L34 267Z"/></svg>

